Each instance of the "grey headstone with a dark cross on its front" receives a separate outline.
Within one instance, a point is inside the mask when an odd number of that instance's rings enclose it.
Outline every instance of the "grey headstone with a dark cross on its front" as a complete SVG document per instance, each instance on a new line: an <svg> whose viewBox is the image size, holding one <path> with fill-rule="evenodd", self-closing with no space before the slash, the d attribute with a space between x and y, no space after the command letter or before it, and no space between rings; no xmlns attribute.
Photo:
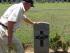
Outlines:
<svg viewBox="0 0 70 53"><path fill-rule="evenodd" d="M49 53L49 24L34 25L34 53Z"/></svg>

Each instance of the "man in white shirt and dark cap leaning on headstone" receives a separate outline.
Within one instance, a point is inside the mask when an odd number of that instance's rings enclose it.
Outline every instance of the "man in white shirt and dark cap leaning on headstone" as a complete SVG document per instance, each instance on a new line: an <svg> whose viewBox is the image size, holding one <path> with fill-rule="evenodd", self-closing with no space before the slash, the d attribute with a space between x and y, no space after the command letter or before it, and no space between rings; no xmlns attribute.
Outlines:
<svg viewBox="0 0 70 53"><path fill-rule="evenodd" d="M19 27L20 21L24 20L29 24L34 24L28 19L24 13L33 7L32 0L24 0L18 4L10 6L0 18L0 47L6 53L6 45L8 48L12 48L13 44L16 44L16 53L24 53L23 46L18 39L15 38L14 32ZM7 41L8 38L8 41Z"/></svg>

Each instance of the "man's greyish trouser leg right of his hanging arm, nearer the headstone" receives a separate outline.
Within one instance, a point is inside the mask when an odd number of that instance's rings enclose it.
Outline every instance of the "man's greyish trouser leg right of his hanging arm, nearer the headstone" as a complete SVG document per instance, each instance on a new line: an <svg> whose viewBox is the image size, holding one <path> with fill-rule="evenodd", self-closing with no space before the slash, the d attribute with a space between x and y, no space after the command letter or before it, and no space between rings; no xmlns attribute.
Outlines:
<svg viewBox="0 0 70 53"><path fill-rule="evenodd" d="M13 45L16 50L16 53L24 53L22 43L15 36L13 36Z"/></svg>

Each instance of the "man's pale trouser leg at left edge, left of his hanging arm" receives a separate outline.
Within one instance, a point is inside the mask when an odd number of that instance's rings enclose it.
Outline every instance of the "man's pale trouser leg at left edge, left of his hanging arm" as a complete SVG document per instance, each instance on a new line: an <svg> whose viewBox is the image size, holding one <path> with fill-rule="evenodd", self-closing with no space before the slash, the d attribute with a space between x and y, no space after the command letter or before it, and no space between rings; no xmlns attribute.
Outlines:
<svg viewBox="0 0 70 53"><path fill-rule="evenodd" d="M0 29L0 53L7 53L5 33ZM5 39L4 39L5 38Z"/></svg>

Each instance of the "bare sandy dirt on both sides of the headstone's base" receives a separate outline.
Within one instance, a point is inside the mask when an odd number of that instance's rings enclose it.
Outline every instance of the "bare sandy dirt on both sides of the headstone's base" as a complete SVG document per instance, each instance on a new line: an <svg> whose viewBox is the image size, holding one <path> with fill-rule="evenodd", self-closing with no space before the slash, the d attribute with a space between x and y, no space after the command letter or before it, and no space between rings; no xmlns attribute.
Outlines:
<svg viewBox="0 0 70 53"><path fill-rule="evenodd" d="M25 48L25 53L34 53L34 48L32 47L31 44L26 44L24 46ZM59 49L59 51L54 52L54 50L49 48L49 53L70 53L70 47L68 48L67 52L62 52L62 49Z"/></svg>

